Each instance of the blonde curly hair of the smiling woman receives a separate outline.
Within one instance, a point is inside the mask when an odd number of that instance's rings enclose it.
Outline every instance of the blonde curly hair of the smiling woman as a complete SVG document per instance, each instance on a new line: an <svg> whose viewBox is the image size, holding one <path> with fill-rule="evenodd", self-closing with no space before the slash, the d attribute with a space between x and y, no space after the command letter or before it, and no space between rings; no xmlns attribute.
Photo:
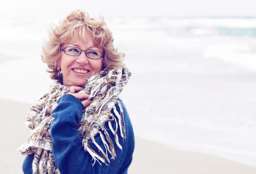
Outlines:
<svg viewBox="0 0 256 174"><path fill-rule="evenodd" d="M49 32L49 41L43 46L42 61L47 64L50 77L62 81L58 73L58 59L61 57L61 44L73 42L78 38L85 38L89 33L93 36L96 46L103 48L104 68L117 68L123 66L125 53L119 52L113 46L113 35L108 29L105 20L100 16L99 20L90 18L89 15L81 10L71 12L62 20L59 26L53 27Z"/></svg>

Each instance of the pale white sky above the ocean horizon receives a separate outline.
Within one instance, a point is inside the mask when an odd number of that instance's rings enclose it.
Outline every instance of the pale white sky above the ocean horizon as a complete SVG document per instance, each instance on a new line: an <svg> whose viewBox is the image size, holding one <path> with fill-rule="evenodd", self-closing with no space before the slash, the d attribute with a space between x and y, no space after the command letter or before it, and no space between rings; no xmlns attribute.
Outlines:
<svg viewBox="0 0 256 174"><path fill-rule="evenodd" d="M91 17L256 17L256 0L5 0L0 17L63 17L83 9Z"/></svg>

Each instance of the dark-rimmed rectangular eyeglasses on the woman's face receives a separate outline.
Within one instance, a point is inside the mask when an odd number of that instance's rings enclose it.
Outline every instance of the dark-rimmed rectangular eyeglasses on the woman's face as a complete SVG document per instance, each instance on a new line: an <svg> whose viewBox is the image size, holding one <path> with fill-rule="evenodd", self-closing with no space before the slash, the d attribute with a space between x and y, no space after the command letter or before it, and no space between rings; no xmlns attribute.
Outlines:
<svg viewBox="0 0 256 174"><path fill-rule="evenodd" d="M79 56L81 52L84 51L87 58L100 59L103 57L102 52L96 51L93 49L81 50L80 48L77 48L77 47L66 46L65 48L61 48L60 50L64 51L65 54L71 55L71 56Z"/></svg>

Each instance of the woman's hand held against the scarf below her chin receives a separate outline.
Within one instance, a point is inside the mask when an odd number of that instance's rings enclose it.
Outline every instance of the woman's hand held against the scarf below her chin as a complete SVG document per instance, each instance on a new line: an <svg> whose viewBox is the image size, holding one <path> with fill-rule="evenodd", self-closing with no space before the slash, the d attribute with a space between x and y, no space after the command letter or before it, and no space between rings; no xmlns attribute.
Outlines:
<svg viewBox="0 0 256 174"><path fill-rule="evenodd" d="M92 102L90 100L86 100L86 99L89 98L90 95L89 94L84 94L84 93L78 93L81 90L83 90L82 87L71 86L70 89L66 93L64 93L64 91L62 91L61 96L64 96L65 94L71 94L72 96L75 96L79 100L85 99L81 103L84 105L84 107L87 107ZM57 101L61 98L61 96L59 96L57 98Z"/></svg>

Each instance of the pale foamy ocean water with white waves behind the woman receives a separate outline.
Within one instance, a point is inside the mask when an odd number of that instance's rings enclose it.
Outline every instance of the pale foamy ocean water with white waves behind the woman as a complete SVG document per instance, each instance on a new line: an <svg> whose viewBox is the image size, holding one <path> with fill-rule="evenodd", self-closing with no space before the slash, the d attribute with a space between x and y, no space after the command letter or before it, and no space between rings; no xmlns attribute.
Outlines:
<svg viewBox="0 0 256 174"><path fill-rule="evenodd" d="M33 104L52 83L41 46L58 19L1 20L0 98ZM256 18L106 21L132 71L120 97L137 136L256 166Z"/></svg>

